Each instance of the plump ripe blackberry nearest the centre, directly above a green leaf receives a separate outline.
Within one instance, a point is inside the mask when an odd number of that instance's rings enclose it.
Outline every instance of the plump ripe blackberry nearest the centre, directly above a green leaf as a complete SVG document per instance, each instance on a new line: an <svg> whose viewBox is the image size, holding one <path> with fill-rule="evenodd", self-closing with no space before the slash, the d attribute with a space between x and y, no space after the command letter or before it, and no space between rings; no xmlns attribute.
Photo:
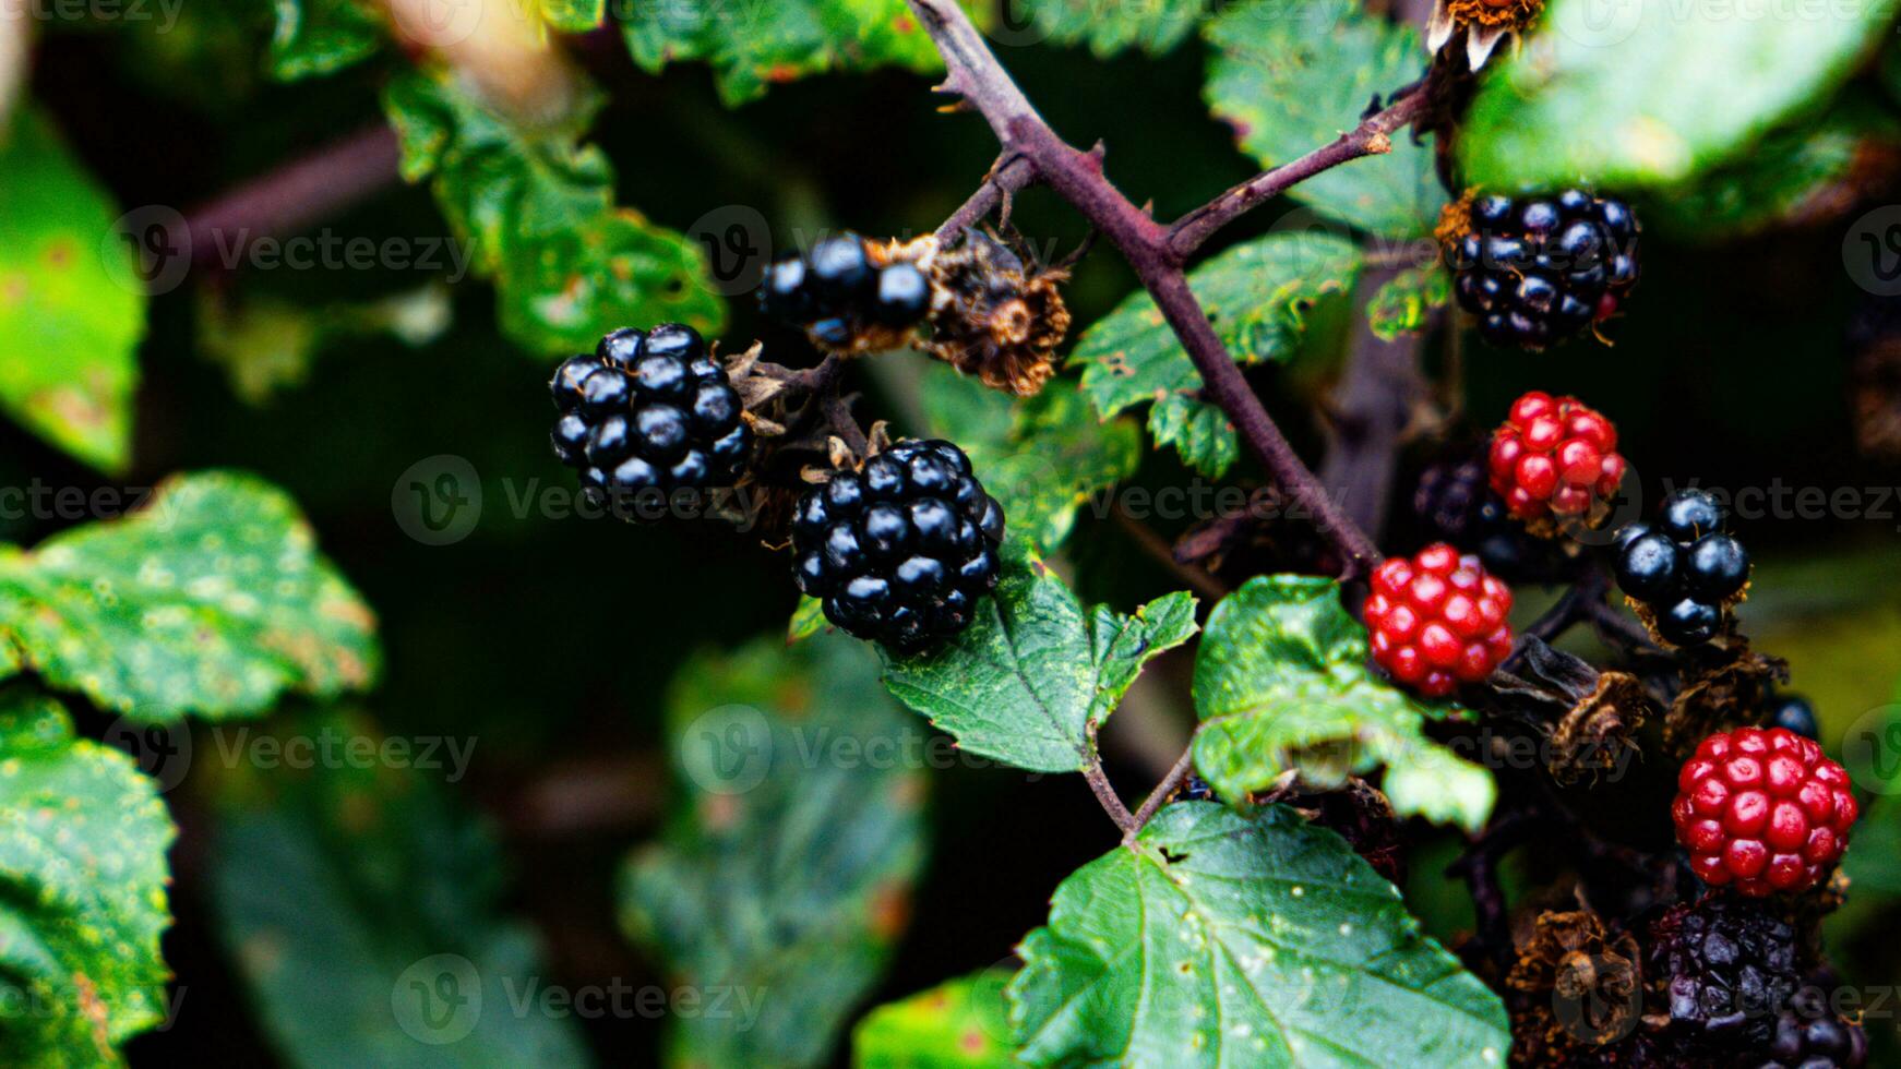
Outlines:
<svg viewBox="0 0 1901 1069"><path fill-rule="evenodd" d="M833 625L912 653L970 627L1002 539L964 450L903 441L798 499L793 573Z"/></svg>

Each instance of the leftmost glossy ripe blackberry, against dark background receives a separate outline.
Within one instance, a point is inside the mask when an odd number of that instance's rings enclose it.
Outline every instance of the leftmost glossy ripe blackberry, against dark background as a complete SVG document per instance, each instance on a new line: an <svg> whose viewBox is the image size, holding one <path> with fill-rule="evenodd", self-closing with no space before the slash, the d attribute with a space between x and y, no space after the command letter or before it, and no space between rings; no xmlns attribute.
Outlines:
<svg viewBox="0 0 1901 1069"><path fill-rule="evenodd" d="M605 503L732 486L753 450L739 393L692 327L614 330L549 384L555 456Z"/></svg>

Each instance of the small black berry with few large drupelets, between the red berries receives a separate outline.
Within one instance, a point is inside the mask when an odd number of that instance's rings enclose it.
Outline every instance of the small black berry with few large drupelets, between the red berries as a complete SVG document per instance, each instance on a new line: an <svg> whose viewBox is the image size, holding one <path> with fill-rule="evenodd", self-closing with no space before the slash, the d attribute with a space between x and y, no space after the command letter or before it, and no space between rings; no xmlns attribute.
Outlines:
<svg viewBox="0 0 1901 1069"><path fill-rule="evenodd" d="M1616 549L1618 587L1650 610L1671 646L1715 638L1749 583L1749 553L1724 532L1722 507L1703 490L1671 494L1658 524L1627 524Z"/></svg>

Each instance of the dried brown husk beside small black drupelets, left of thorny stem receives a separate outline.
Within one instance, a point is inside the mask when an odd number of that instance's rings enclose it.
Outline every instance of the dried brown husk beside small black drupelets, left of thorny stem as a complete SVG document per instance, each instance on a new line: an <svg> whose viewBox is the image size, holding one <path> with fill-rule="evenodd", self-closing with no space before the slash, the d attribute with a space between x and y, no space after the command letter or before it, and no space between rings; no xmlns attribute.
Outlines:
<svg viewBox="0 0 1901 1069"><path fill-rule="evenodd" d="M922 347L992 389L1042 391L1070 328L1061 291L1068 272L1027 266L977 230L920 266L931 279L931 336Z"/></svg>

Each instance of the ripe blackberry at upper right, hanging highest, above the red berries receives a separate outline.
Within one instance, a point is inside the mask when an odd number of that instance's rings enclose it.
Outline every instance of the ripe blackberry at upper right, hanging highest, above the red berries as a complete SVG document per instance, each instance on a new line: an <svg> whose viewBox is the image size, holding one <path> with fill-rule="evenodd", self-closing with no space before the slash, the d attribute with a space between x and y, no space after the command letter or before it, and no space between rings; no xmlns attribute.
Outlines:
<svg viewBox="0 0 1901 1069"><path fill-rule="evenodd" d="M1542 349L1618 311L1637 230L1629 205L1584 190L1479 197L1447 234L1452 291L1487 342Z"/></svg>

